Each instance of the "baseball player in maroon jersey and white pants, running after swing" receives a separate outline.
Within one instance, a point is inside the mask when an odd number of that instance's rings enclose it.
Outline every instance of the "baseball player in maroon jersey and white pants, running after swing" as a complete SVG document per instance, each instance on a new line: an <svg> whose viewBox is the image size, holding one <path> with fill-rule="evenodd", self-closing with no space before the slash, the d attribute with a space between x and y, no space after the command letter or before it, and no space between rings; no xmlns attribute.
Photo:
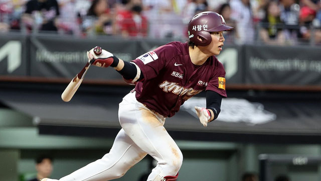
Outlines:
<svg viewBox="0 0 321 181"><path fill-rule="evenodd" d="M215 120L225 91L225 70L214 55L223 47L223 31L232 30L224 18L203 12L189 23L189 42L171 42L125 62L102 50L91 49L89 61L100 67L114 67L135 88L119 104L117 134L110 152L60 181L105 181L119 178L146 154L156 161L147 181L176 180L183 155L164 128L180 106L194 95L206 91L206 108L195 107L200 122ZM44 178L42 181L56 179Z"/></svg>

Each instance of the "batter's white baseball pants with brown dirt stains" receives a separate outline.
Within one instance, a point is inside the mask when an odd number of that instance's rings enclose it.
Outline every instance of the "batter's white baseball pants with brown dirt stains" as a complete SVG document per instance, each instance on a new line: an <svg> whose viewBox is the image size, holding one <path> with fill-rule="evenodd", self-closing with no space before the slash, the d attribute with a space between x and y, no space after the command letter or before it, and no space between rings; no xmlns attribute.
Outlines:
<svg viewBox="0 0 321 181"><path fill-rule="evenodd" d="M162 181L175 176L181 168L183 155L164 128L165 118L139 103L135 92L119 104L117 134L110 152L88 165L62 177L60 181L106 181L119 178L146 154L157 160L147 181Z"/></svg>

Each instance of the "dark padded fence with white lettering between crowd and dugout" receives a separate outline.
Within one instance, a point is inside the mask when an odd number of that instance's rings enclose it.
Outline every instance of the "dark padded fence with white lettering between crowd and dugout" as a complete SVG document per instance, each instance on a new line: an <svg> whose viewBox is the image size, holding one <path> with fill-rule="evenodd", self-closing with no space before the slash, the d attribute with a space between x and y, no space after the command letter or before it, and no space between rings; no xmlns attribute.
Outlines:
<svg viewBox="0 0 321 181"><path fill-rule="evenodd" d="M2 79L70 79L85 65L86 52L94 46L130 61L170 41L6 35L0 39L0 75ZM225 66L227 86L321 86L318 47L227 44L217 57ZM92 69L86 74L87 81L122 81L113 69Z"/></svg>

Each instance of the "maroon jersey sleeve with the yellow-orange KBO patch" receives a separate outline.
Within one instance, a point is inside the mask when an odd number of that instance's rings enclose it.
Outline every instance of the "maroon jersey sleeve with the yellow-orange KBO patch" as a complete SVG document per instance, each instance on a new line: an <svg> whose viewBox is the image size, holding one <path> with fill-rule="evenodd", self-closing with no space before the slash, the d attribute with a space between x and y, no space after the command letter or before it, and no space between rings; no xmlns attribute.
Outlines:
<svg viewBox="0 0 321 181"><path fill-rule="evenodd" d="M206 91L214 91L223 97L227 97L225 90L225 69L221 62L217 61L213 76L209 81Z"/></svg>

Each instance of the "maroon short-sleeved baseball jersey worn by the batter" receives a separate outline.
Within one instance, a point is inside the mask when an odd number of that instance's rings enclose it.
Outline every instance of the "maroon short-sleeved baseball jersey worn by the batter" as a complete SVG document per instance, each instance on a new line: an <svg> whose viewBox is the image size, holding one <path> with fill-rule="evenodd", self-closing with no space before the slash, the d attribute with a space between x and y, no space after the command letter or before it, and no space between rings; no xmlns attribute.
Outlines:
<svg viewBox="0 0 321 181"><path fill-rule="evenodd" d="M144 75L135 86L137 101L163 116L174 116L186 100L204 89L226 97L223 64L212 56L203 65L194 65L188 43L168 43L133 62Z"/></svg>

